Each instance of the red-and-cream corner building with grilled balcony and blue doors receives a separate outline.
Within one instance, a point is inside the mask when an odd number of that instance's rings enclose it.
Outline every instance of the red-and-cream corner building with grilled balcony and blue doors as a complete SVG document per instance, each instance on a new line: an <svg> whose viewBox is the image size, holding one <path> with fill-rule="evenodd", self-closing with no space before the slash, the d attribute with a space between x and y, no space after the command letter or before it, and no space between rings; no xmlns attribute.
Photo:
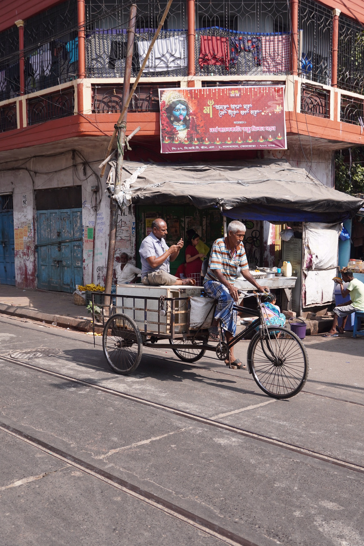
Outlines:
<svg viewBox="0 0 364 546"><path fill-rule="evenodd" d="M136 5L132 84L166 2ZM98 165L121 111L129 8L1 1L2 283L72 292L104 282L110 201ZM141 129L126 159L285 158L333 187L335 151L364 139L363 23L363 0L174 0L129 105L127 134ZM287 150L160 153L159 89L237 85L285 86ZM130 207L118 219L117 250L135 258L157 213L171 240L197 224L207 241L220 234L217 211L177 209ZM249 229L251 263L262 241L274 256L275 228Z"/></svg>

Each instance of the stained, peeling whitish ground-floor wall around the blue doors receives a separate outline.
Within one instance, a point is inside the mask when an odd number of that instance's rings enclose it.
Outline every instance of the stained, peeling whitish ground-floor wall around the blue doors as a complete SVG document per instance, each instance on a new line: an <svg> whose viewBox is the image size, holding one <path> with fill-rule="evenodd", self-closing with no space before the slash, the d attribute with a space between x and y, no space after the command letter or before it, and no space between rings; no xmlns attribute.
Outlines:
<svg viewBox="0 0 364 546"><path fill-rule="evenodd" d="M109 248L110 200L105 181L99 179L98 165L103 151L95 154L85 149L55 155L35 156L6 163L0 172L0 193L13 193L15 283L21 288L37 288L37 211L34 191L82 186L83 283L104 285ZM4 169L4 167L3 167ZM94 191L97 188L98 191ZM50 209L52 204L50 204ZM94 239L92 235L94 234ZM119 214L116 256L122 251L135 262L135 210L129 207Z"/></svg>

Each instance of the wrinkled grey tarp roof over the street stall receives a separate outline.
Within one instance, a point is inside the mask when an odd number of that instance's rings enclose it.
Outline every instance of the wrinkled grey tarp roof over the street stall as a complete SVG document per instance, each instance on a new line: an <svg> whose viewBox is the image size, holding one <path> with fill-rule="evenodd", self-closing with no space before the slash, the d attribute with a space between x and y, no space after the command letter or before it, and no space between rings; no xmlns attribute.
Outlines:
<svg viewBox="0 0 364 546"><path fill-rule="evenodd" d="M123 177L145 165L124 162ZM130 186L132 203L219 208L230 218L339 222L364 204L315 180L287 161L148 164Z"/></svg>

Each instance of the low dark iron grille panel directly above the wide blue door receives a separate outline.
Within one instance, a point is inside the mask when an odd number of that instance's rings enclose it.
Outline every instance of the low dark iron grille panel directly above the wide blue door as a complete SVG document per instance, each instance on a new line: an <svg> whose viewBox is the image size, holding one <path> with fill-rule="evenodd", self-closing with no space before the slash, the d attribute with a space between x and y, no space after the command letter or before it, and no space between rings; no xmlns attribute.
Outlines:
<svg viewBox="0 0 364 546"><path fill-rule="evenodd" d="M74 87L63 89L41 97L27 100L28 125L58 117L72 116L74 113Z"/></svg>

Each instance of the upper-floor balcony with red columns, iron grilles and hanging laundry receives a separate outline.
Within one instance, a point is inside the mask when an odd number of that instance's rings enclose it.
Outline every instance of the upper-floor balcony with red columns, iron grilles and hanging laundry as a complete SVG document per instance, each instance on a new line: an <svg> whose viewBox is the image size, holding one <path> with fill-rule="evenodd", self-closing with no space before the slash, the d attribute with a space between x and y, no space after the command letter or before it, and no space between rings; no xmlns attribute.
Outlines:
<svg viewBox="0 0 364 546"><path fill-rule="evenodd" d="M66 126L76 135L89 116L103 130L113 128L129 4L82 5L83 13L69 0L0 32L0 138L47 121L61 136ZM137 4L132 83L165 5ZM351 124L355 140L357 126L364 127L364 32L337 12L313 0L174 0L130 103L130 121L148 122L147 133L158 133L160 88L285 84L288 130L303 126L297 116L306 124L312 116L318 133L322 118L332 127Z"/></svg>

